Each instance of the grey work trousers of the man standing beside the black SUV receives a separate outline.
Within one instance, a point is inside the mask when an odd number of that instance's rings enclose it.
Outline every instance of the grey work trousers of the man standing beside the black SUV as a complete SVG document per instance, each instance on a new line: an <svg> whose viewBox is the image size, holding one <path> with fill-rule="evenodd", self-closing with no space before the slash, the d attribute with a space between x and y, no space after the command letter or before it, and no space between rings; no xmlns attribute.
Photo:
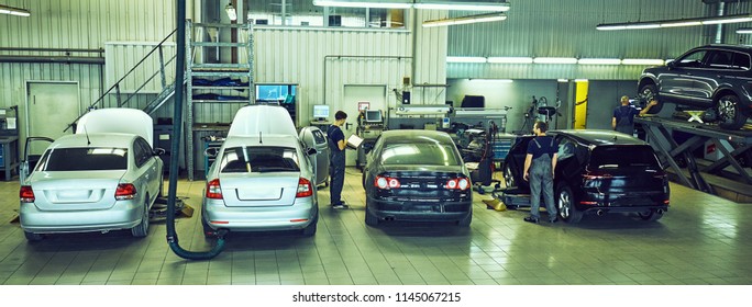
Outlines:
<svg viewBox="0 0 752 307"><path fill-rule="evenodd" d="M540 219L541 192L545 201L545 209L549 211L549 219L556 218L556 207L553 202L553 171L551 169L551 156L541 155L532 160L530 166L530 216Z"/></svg>

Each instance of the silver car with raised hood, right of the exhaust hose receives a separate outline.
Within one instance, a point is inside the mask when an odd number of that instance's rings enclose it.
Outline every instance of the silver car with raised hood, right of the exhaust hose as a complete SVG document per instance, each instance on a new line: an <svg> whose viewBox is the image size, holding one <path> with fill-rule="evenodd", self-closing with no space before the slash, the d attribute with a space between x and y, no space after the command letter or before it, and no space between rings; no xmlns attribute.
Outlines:
<svg viewBox="0 0 752 307"><path fill-rule="evenodd" d="M317 150L298 138L287 110L242 107L219 151L207 155L217 158L201 207L208 238L218 230L316 234L319 205L311 159Z"/></svg>

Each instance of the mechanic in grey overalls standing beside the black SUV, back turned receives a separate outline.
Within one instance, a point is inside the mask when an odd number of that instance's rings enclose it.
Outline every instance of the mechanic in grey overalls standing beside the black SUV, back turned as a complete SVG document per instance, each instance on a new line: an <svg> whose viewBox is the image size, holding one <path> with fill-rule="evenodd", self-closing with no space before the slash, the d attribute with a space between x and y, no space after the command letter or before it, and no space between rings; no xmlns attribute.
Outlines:
<svg viewBox="0 0 752 307"><path fill-rule="evenodd" d="M549 221L556 223L556 207L553 198L554 169L559 144L552 136L546 136L549 125L537 122L533 126L535 137L528 145L528 155L524 158L523 179L530 181L530 216L524 221L538 223L541 213L541 193L545 201L545 209L549 213Z"/></svg>

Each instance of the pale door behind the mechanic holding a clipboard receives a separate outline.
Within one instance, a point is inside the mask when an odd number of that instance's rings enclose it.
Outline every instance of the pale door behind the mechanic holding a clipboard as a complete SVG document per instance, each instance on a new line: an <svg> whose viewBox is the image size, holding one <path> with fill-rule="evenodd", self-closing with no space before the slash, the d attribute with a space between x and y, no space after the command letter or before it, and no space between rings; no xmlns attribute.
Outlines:
<svg viewBox="0 0 752 307"><path fill-rule="evenodd" d="M385 84L345 84L344 86L344 98L340 102L341 104L332 110L342 110L347 113L347 122L343 126L343 133L346 137L356 133L357 128L357 115L358 115L358 103L368 102L368 110L380 110L381 114L386 116L386 86ZM333 115L332 115L333 118ZM355 150L350 150L346 154L345 164L349 167L355 166L355 159L357 158L357 152Z"/></svg>

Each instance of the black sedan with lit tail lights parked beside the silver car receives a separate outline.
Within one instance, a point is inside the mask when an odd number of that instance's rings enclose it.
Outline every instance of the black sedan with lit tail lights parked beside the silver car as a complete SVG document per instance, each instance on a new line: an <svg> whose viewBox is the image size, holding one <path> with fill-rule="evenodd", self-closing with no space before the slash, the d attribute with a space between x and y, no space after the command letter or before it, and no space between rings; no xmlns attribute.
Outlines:
<svg viewBox="0 0 752 307"><path fill-rule="evenodd" d="M442 132L384 132L366 157L365 223L473 218L469 172L452 138Z"/></svg>

